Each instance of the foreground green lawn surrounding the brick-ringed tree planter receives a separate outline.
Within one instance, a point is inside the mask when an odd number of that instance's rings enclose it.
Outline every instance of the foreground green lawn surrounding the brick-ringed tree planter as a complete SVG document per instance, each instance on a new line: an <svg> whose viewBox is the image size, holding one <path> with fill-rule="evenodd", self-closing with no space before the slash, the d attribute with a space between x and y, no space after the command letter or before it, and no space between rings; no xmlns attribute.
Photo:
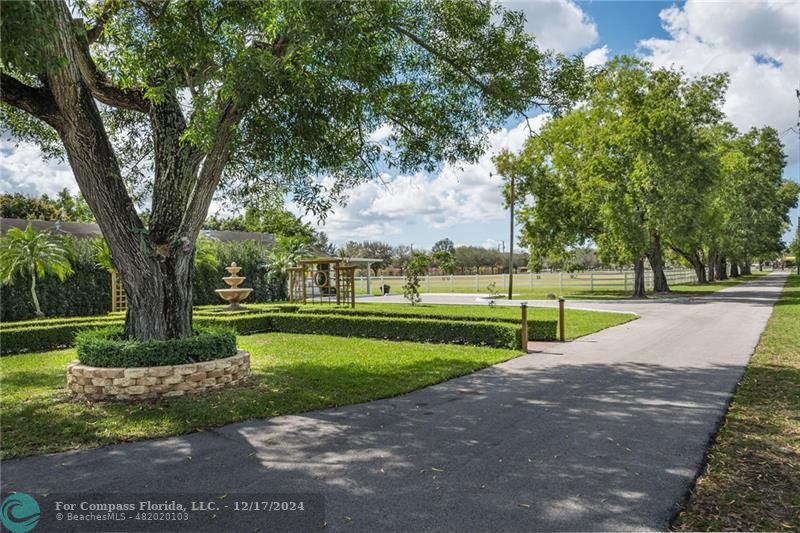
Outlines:
<svg viewBox="0 0 800 533"><path fill-rule="evenodd" d="M403 394L519 354L476 346L266 333L239 337L253 377L242 388L138 404L70 401L74 350L0 358L0 457L178 435L251 418Z"/></svg>

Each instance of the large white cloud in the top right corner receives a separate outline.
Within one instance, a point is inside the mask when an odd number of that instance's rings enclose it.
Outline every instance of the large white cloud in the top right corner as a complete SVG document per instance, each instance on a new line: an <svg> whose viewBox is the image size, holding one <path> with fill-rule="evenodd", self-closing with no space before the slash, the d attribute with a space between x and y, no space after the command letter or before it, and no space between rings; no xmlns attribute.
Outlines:
<svg viewBox="0 0 800 533"><path fill-rule="evenodd" d="M730 73L723 110L740 130L797 120L800 79L800 3L711 3L688 0L660 14L670 39L639 43L656 66L682 66L691 75ZM790 163L798 162L796 137L783 136Z"/></svg>

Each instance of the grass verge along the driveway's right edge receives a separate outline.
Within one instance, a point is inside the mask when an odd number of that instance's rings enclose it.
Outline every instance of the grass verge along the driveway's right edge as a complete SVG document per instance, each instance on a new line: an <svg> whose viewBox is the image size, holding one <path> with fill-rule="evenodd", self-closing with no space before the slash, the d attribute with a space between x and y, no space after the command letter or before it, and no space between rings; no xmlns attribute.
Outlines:
<svg viewBox="0 0 800 533"><path fill-rule="evenodd" d="M800 531L800 276L761 335L673 528Z"/></svg>

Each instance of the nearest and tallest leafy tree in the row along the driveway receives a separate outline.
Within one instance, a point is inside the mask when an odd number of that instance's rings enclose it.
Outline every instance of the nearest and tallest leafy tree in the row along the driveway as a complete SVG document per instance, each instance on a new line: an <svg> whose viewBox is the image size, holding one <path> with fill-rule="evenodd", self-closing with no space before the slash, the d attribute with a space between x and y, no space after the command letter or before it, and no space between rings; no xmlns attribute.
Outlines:
<svg viewBox="0 0 800 533"><path fill-rule="evenodd" d="M668 290L662 240L695 220L713 175L703 135L721 117L726 77L687 79L620 57L592 80L584 105L548 122L498 170L520 179L533 203L520 210L523 243L537 255L588 241L601 258L633 263L633 295L644 297L644 265Z"/></svg>

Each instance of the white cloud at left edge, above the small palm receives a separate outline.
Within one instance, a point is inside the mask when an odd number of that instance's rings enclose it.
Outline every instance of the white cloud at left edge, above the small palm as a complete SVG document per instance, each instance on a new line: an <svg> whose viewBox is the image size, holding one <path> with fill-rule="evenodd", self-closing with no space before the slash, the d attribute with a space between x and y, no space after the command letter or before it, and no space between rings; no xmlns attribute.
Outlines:
<svg viewBox="0 0 800 533"><path fill-rule="evenodd" d="M78 190L66 161L45 161L39 147L31 143L17 146L0 140L0 190L4 193L52 196L65 187Z"/></svg>

